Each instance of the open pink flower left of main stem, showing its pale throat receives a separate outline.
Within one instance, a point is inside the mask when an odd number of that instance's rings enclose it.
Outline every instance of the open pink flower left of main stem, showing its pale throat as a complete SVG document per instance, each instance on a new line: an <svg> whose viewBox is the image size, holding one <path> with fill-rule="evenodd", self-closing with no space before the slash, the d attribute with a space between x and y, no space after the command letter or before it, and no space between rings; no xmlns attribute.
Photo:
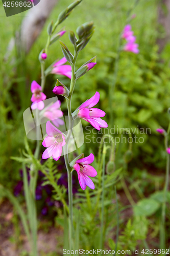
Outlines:
<svg viewBox="0 0 170 256"><path fill-rule="evenodd" d="M42 154L42 159L53 156L53 159L57 161L61 157L62 146L65 145L64 135L50 121L46 123L46 133L47 136L42 145L47 148Z"/></svg>

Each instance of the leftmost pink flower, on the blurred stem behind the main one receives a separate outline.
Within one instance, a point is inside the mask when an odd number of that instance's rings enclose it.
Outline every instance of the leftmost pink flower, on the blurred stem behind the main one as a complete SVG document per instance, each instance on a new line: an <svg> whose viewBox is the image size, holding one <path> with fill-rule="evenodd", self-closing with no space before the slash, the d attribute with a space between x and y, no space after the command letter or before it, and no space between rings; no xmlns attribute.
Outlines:
<svg viewBox="0 0 170 256"><path fill-rule="evenodd" d="M33 102L31 108L33 110L38 109L42 110L44 108L44 102L42 100L46 99L46 95L41 92L42 88L36 81L31 83L31 92L33 93L31 101Z"/></svg>

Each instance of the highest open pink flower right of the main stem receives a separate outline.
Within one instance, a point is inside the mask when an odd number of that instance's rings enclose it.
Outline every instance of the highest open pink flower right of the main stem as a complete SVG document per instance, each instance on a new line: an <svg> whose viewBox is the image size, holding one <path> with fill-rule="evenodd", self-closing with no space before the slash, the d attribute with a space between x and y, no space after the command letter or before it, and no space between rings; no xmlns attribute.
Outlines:
<svg viewBox="0 0 170 256"><path fill-rule="evenodd" d="M94 96L92 96L90 99L86 100L82 105L80 105L78 117L91 123L91 125L95 129L100 131L101 127L106 128L108 125L107 122L101 119L101 117L105 116L106 113L100 109L92 109L92 107L99 102L99 99L100 93L96 92Z"/></svg>

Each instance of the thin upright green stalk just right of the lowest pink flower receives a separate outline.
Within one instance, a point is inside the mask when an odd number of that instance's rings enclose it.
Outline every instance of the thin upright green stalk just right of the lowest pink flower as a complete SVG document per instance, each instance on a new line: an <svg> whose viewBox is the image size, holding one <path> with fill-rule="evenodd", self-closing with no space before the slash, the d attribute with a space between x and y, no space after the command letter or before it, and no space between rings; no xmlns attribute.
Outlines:
<svg viewBox="0 0 170 256"><path fill-rule="evenodd" d="M102 169L102 218L101 218L101 236L100 236L100 249L103 248L104 243L104 234L103 234L103 225L104 225L104 199L105 199L105 158L106 158L106 146L103 148L103 169Z"/></svg>

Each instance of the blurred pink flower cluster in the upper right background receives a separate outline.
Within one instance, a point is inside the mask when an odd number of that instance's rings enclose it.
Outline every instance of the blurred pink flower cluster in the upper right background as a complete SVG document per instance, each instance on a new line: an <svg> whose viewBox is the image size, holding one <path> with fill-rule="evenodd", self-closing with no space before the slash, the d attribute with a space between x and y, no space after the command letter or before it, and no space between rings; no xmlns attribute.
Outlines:
<svg viewBox="0 0 170 256"><path fill-rule="evenodd" d="M122 34L122 38L125 38L127 43L124 46L124 51L139 53L138 44L135 43L136 37L133 35L131 25L126 25Z"/></svg>

